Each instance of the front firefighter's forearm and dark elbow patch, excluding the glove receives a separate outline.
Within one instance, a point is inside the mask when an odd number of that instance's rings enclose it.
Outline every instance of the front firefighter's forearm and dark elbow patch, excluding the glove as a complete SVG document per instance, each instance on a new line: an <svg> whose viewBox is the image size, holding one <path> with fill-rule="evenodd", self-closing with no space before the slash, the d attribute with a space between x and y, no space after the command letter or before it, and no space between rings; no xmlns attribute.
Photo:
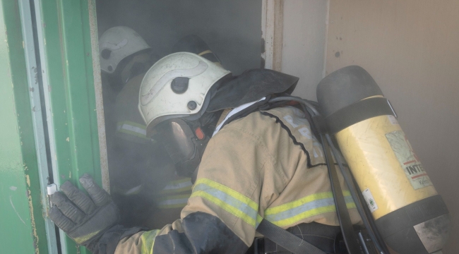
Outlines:
<svg viewBox="0 0 459 254"><path fill-rule="evenodd" d="M220 219L193 212L160 230L141 231L122 239L115 254L245 253L247 248Z"/></svg>

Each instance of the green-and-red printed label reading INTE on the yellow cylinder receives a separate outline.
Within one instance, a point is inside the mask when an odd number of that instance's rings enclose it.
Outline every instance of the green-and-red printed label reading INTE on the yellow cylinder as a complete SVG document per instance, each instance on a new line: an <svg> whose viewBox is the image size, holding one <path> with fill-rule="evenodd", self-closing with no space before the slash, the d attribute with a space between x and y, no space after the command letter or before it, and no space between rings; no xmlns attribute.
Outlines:
<svg viewBox="0 0 459 254"><path fill-rule="evenodd" d="M410 142L407 140L403 131L394 131L386 133L386 138L391 144L395 156L397 156L400 166L405 171L405 174L415 190L431 186L432 182L427 176L424 167L413 152Z"/></svg>

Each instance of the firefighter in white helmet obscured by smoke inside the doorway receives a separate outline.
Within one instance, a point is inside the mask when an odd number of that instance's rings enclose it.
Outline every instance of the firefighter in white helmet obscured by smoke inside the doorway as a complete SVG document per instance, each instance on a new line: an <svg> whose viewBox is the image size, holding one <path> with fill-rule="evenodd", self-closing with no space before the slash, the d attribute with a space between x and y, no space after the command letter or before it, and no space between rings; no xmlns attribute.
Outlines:
<svg viewBox="0 0 459 254"><path fill-rule="evenodd" d="M126 26L105 31L99 53L111 193L125 224L145 225L149 214L158 210L157 195L174 172L158 145L145 136L145 123L136 110L143 75L159 56Z"/></svg>

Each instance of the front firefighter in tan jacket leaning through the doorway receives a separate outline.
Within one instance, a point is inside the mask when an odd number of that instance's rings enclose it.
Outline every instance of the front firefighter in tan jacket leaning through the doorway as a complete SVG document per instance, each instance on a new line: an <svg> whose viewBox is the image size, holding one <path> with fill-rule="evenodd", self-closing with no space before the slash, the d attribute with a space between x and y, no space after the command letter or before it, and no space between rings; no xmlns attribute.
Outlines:
<svg viewBox="0 0 459 254"><path fill-rule="evenodd" d="M257 69L234 77L196 54L165 56L145 74L138 107L147 136L165 145L179 171L196 172L181 218L162 229L124 228L88 175L80 182L89 197L64 183L49 217L94 253L245 253L262 219L335 253L340 229L321 144L304 111L266 105L297 81Z"/></svg>

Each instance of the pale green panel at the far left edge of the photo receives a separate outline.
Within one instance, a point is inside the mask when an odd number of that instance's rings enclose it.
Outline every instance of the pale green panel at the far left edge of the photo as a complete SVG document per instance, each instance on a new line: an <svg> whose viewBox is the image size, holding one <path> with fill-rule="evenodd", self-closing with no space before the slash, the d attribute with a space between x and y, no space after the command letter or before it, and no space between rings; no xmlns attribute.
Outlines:
<svg viewBox="0 0 459 254"><path fill-rule="evenodd" d="M0 246L49 253L17 1L0 4Z"/></svg>

